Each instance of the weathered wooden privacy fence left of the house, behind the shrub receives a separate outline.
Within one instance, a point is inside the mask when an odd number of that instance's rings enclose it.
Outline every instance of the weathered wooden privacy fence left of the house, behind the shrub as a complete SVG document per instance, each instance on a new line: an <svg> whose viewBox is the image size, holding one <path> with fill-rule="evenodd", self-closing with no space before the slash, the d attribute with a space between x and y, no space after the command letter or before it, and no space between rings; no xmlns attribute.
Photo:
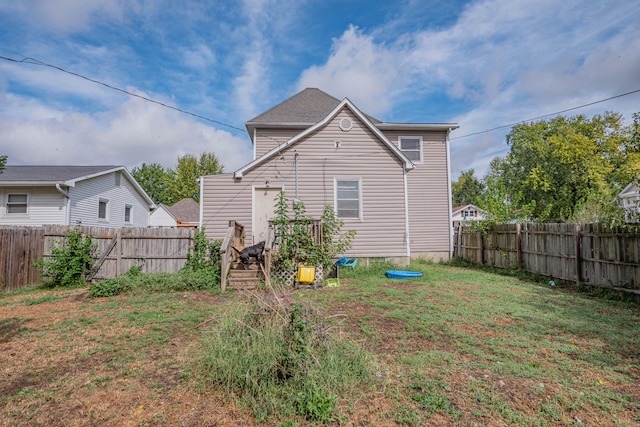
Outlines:
<svg viewBox="0 0 640 427"><path fill-rule="evenodd" d="M184 267L192 228L105 228L46 225L0 227L0 291L10 292L37 283L40 272L34 261L51 256L56 242L72 229L93 236L96 244L92 278L118 277L131 267L144 273L175 273Z"/></svg>

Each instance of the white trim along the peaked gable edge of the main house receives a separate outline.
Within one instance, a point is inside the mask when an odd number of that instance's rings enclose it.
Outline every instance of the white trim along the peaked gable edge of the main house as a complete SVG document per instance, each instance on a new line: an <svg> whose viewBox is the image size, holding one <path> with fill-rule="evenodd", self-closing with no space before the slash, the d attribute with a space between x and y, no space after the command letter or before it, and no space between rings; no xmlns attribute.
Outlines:
<svg viewBox="0 0 640 427"><path fill-rule="evenodd" d="M398 157L399 160L402 161L405 169L411 170L411 169L415 168L415 165L413 164L413 162L411 160L409 160L407 158L407 156L405 156L402 153L402 151L400 151L400 149L394 143L392 143L382 133L382 131L380 131L380 129L378 129L373 123L371 123L371 121L355 105L353 105L351 103L351 101L349 101L348 98L344 98L342 100L342 102L340 102L340 104L338 104L336 106L336 108L334 108L333 111L331 111L324 119L322 119L321 121L319 121L315 125L305 129L304 131L300 132L299 134L297 134L296 136L292 137L291 139L289 139L284 144L272 148L271 150L269 150L268 152L266 152L265 154L260 156L258 159L254 159L252 162L247 163L245 166L243 166L240 169L236 170L233 173L233 177L235 179L242 179L243 175L246 172L249 172L250 170L256 168L257 166L261 165L262 163L266 162L267 160L271 159L272 157L274 157L276 155L280 155L280 153L283 150L286 150L287 148L291 147L293 144L295 144L298 141L302 140L306 136L308 136L308 135L314 133L315 131L317 131L318 129L326 126L345 107L349 108L351 110L351 112L353 114L355 114L365 124L365 126L367 128L369 128L369 130L371 130L371 132L373 132L378 137L378 139L380 139L380 141L382 141L391 150L391 152L396 155L396 157Z"/></svg>

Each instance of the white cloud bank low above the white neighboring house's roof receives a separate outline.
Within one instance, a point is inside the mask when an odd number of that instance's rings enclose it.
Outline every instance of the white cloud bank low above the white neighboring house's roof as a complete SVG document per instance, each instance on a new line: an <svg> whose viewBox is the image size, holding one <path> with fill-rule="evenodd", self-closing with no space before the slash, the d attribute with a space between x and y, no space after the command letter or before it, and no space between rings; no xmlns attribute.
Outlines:
<svg viewBox="0 0 640 427"><path fill-rule="evenodd" d="M12 111L0 116L0 151L9 156L9 164L175 167L184 154L213 152L230 172L252 156L246 138L138 98L96 114L61 111L15 95L3 101Z"/></svg>

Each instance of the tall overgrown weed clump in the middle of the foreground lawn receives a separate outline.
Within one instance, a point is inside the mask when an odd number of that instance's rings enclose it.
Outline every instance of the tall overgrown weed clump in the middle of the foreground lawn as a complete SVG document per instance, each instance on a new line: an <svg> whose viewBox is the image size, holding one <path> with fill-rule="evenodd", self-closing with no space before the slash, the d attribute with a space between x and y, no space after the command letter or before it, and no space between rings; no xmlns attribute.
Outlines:
<svg viewBox="0 0 640 427"><path fill-rule="evenodd" d="M202 378L258 421L335 421L339 397L372 381L368 357L334 339L310 306L273 295L256 294L218 320L204 341Z"/></svg>

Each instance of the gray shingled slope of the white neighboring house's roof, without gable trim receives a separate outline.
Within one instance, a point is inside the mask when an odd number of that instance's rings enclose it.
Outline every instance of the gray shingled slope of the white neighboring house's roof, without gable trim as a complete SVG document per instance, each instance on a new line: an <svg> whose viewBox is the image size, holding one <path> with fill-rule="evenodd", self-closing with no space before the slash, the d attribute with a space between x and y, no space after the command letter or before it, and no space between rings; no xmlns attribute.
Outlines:
<svg viewBox="0 0 640 427"><path fill-rule="evenodd" d="M122 166L5 166L0 170L0 183L64 183L121 168Z"/></svg>

